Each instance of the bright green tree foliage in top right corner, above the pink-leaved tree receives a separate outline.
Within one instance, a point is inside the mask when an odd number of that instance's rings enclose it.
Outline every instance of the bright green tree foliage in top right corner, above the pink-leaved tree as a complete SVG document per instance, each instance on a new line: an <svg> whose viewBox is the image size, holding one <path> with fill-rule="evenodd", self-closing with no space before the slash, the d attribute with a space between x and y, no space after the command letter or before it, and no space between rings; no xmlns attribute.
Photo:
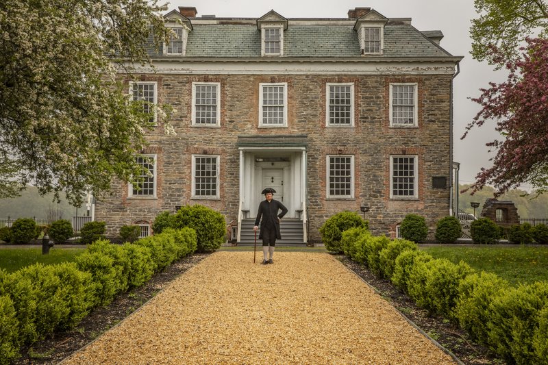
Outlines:
<svg viewBox="0 0 548 365"><path fill-rule="evenodd" d="M499 64L493 58L493 47L499 49L506 60L516 56L525 36L540 30L547 36L548 4L541 0L475 0L479 18L472 20L470 28L472 56Z"/></svg>

